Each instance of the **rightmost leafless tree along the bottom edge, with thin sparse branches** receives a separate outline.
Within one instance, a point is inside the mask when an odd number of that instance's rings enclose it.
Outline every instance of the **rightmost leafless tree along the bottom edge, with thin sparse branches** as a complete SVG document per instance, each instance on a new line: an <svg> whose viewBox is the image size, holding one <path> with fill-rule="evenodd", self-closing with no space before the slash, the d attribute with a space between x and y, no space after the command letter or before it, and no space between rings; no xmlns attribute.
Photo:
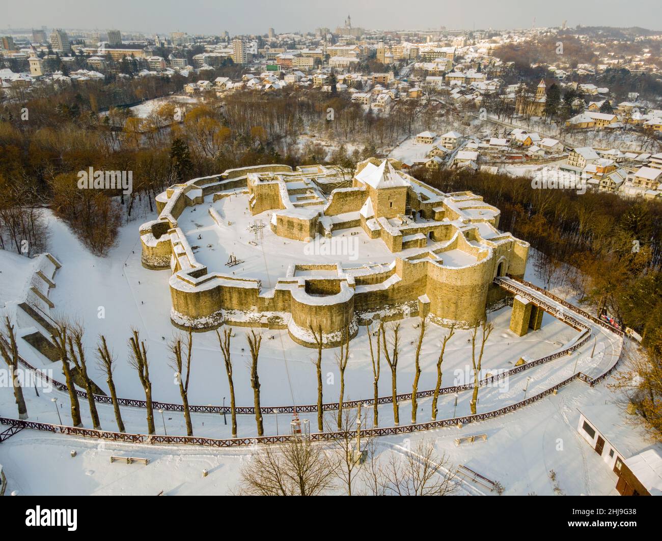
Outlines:
<svg viewBox="0 0 662 541"><path fill-rule="evenodd" d="M446 454L437 454L434 440L419 440L403 454L392 452L384 468L386 492L399 496L446 496L457 479Z"/></svg>

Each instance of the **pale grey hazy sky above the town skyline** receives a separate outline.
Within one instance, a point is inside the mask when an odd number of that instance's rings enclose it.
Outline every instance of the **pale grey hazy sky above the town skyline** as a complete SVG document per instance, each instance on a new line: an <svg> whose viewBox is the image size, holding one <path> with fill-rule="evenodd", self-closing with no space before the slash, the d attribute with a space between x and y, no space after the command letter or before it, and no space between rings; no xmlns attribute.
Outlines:
<svg viewBox="0 0 662 541"><path fill-rule="evenodd" d="M42 25L146 33L264 34L353 26L382 29L642 26L662 28L660 0L0 0L0 28Z"/></svg>

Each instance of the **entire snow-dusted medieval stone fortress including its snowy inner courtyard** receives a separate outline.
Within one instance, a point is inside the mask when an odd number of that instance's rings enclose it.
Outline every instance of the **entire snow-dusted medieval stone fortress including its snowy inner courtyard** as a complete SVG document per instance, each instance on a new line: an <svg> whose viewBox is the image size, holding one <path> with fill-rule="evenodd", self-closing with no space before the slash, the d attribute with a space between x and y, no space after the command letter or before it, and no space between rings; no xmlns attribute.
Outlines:
<svg viewBox="0 0 662 541"><path fill-rule="evenodd" d="M353 174L228 170L174 185L156 204L158 219L140 227L142 263L171 269L173 325L287 328L308 347L319 329L334 347L375 319L473 327L503 297L494 278L523 276L528 256L481 196L445 194L393 159Z"/></svg>

